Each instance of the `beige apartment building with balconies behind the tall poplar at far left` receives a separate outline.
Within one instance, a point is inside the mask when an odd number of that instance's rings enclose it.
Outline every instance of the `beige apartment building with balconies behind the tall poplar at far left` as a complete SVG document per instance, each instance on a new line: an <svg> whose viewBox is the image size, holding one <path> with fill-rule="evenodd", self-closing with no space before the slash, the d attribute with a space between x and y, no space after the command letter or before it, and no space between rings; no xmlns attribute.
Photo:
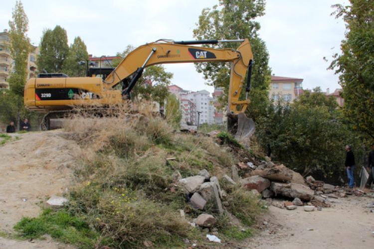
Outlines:
<svg viewBox="0 0 374 249"><path fill-rule="evenodd" d="M8 49L9 34L6 29L0 32L0 88L8 88L7 82L13 60ZM27 78L36 76L36 56L39 53L39 47L31 45L31 51L27 60Z"/></svg>

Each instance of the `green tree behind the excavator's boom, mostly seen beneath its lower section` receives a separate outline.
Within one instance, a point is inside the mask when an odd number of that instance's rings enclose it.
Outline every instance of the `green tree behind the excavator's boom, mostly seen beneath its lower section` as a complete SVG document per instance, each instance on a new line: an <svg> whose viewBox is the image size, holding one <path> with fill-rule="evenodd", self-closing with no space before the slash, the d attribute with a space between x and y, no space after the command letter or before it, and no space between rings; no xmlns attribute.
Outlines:
<svg viewBox="0 0 374 249"><path fill-rule="evenodd" d="M113 60L113 67L118 66L134 49L134 46L128 45L122 53L117 53L119 58ZM131 91L131 96L136 99L153 100L163 105L169 95L168 86L172 78L173 73L166 72L163 65L149 66Z"/></svg>

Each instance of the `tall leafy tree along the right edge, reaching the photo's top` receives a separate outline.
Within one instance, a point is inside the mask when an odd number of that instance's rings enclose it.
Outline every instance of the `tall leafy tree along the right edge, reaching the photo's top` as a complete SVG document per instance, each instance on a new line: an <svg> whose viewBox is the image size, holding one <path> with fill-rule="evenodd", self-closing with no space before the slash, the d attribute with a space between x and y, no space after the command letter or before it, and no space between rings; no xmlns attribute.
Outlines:
<svg viewBox="0 0 374 249"><path fill-rule="evenodd" d="M350 0L333 5L336 18L343 17L347 31L341 54L330 69L339 74L345 101L344 115L354 128L374 138L374 1Z"/></svg>

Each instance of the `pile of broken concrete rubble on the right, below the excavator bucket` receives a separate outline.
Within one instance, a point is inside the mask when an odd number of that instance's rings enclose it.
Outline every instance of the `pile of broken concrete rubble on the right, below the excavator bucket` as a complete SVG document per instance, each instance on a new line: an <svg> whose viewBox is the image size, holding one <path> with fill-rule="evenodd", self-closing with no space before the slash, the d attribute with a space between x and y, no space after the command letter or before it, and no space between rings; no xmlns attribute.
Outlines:
<svg viewBox="0 0 374 249"><path fill-rule="evenodd" d="M301 174L283 164L275 164L269 157L256 164L249 161L239 162L232 167L232 179L236 178L236 175L242 176L237 182L243 188L258 191L262 198L279 208L293 210L297 206L304 206L305 211L313 211L314 207L321 210L338 203L338 198L348 194L365 195L361 190L346 191L342 187L317 181L312 176L304 179ZM272 199L278 197L293 201L283 203Z"/></svg>

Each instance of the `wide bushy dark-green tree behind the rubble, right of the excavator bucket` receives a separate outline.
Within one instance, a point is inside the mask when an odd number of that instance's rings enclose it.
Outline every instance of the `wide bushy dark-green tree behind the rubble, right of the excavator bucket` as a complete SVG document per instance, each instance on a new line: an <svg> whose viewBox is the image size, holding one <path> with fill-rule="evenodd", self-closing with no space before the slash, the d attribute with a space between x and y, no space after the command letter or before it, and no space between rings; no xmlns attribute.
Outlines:
<svg viewBox="0 0 374 249"><path fill-rule="evenodd" d="M344 146L352 145L359 165L362 142L342 121L335 100L316 90L292 104L270 105L258 121L257 138L264 148L270 146L273 160L303 175L317 174L337 183L344 176Z"/></svg>

